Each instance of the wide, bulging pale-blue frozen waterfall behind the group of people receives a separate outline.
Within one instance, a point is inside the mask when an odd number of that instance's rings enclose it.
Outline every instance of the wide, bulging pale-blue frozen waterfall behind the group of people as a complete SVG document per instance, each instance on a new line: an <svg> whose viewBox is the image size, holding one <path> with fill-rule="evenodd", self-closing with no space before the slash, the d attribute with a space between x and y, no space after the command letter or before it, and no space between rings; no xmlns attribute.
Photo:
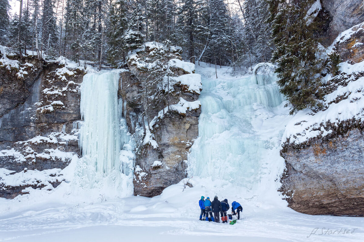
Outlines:
<svg viewBox="0 0 364 242"><path fill-rule="evenodd" d="M199 70L202 112L199 137L189 155L188 173L227 180L248 191L254 190L262 176L271 172L266 164L270 149L276 146L279 155L281 134L274 137L266 128L268 138L262 138L264 127L259 124L260 117L274 117L275 107L283 106L284 98L278 91L276 79L269 75L222 77L224 70L216 79L214 73L207 71L214 69L200 67Z"/></svg>

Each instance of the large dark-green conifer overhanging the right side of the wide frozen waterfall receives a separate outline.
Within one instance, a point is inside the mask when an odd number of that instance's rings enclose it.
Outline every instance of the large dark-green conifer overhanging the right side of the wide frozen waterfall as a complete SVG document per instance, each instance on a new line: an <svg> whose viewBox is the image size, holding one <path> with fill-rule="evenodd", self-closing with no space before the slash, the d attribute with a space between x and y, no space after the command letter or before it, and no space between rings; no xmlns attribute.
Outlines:
<svg viewBox="0 0 364 242"><path fill-rule="evenodd" d="M278 86L288 99L291 114L320 105L323 60L318 58L318 42L313 37L314 23L307 24L306 13L312 1L299 5L285 0L270 0L270 21L276 50Z"/></svg>

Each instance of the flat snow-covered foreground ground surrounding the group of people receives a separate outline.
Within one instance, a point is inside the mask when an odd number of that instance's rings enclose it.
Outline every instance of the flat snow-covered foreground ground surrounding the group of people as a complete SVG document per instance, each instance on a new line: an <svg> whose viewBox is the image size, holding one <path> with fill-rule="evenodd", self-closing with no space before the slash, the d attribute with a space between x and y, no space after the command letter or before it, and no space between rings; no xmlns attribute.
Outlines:
<svg viewBox="0 0 364 242"><path fill-rule="evenodd" d="M203 181L193 181L200 182ZM182 192L182 185L173 185L154 198L127 197L103 202L95 197L88 198L88 202L65 201L66 197L60 198L62 202L35 202L31 198L28 203L27 199L6 204L1 201L1 210L8 211L1 212L0 241L237 239L258 242L360 241L364 238L363 218L310 216L284 207L245 207L242 220L235 225L199 221L198 198L211 193L211 188L196 185ZM227 194L227 191L234 190L229 185L215 189L218 194ZM231 199L238 200L233 194L226 197L230 203ZM318 228L316 234L311 234L315 228ZM350 232L344 234L345 229ZM329 234L335 230L335 234Z"/></svg>

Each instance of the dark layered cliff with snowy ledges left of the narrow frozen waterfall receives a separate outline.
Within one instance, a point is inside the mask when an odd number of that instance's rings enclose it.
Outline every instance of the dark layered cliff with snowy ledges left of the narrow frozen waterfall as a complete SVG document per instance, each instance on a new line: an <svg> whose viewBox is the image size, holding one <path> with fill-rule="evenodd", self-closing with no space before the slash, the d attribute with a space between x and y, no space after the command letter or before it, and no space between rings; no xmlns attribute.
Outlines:
<svg viewBox="0 0 364 242"><path fill-rule="evenodd" d="M29 187L52 189L79 153L73 127L80 120L84 73L35 57L1 60L0 197L13 198Z"/></svg>

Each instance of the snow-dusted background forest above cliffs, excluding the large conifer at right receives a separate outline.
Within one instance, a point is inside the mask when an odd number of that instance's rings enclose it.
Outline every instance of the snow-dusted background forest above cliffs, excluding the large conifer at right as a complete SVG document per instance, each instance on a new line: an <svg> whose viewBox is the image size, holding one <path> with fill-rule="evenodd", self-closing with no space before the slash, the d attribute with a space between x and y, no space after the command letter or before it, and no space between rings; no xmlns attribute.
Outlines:
<svg viewBox="0 0 364 242"><path fill-rule="evenodd" d="M10 15L8 0L0 0L0 44L22 55L39 50L116 63L142 42L170 41L186 61L251 66L269 61L273 50L264 0L20 0L20 6Z"/></svg>

